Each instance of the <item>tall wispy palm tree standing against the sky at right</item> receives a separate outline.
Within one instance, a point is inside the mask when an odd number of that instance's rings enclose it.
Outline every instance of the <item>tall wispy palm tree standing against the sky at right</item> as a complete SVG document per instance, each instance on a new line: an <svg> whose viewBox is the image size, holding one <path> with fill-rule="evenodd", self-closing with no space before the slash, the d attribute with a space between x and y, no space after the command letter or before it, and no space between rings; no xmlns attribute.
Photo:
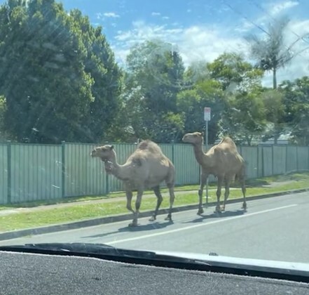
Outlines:
<svg viewBox="0 0 309 295"><path fill-rule="evenodd" d="M257 61L257 67L273 72L273 89L277 89L277 70L284 67L294 56L308 49L303 48L301 51L292 51L292 48L305 37L305 35L297 37L297 39L286 46L284 41L284 32L289 24L287 17L279 18L268 25L266 38L259 38L255 34L251 34L245 39L249 41L251 46L252 58ZM308 34L306 34L308 36Z"/></svg>

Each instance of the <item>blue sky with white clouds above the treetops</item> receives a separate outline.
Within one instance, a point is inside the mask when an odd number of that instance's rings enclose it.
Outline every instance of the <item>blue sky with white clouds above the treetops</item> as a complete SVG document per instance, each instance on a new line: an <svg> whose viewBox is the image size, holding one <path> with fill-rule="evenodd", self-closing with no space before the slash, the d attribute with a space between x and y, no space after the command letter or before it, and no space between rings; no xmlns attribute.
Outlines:
<svg viewBox="0 0 309 295"><path fill-rule="evenodd" d="M3 3L0 0L0 3ZM163 39L177 46L185 65L195 60L212 61L224 51L248 56L244 37L264 34L269 22L281 15L291 19L285 40L309 32L309 1L305 0L62 0L64 8L78 8L92 25L101 25L123 64L130 47L146 39ZM296 52L309 46L298 42ZM298 55L278 72L279 81L309 75L309 52ZM264 84L270 84L266 75Z"/></svg>

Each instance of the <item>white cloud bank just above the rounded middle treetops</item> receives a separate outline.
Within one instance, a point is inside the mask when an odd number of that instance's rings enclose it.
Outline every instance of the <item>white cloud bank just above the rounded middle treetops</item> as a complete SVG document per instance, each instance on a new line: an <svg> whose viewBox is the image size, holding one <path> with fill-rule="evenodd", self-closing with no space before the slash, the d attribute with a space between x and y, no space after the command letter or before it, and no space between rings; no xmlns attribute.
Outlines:
<svg viewBox="0 0 309 295"><path fill-rule="evenodd" d="M115 50L123 52L131 46L149 39L161 39L177 45L185 65L196 60L212 61L224 51L241 51L247 45L240 38L222 37L223 32L210 30L207 27L192 26L187 28L168 28L166 25L146 25L143 21L133 22L133 29L118 34ZM122 62L125 60L123 59Z"/></svg>

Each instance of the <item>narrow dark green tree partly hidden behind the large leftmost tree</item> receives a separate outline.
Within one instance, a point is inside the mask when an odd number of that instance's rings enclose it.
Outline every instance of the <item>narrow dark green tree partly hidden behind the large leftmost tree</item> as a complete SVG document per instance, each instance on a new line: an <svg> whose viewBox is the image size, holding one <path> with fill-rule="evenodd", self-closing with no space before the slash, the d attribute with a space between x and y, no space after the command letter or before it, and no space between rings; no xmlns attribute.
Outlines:
<svg viewBox="0 0 309 295"><path fill-rule="evenodd" d="M90 138L92 142L107 137L118 140L119 136L110 129L118 129L123 73L115 63L114 53L102 34L102 27L92 27L88 17L77 9L70 12L70 17L74 20L87 51L83 61L84 70L94 81L91 85L93 99L90 109L79 126L84 131L83 138Z"/></svg>

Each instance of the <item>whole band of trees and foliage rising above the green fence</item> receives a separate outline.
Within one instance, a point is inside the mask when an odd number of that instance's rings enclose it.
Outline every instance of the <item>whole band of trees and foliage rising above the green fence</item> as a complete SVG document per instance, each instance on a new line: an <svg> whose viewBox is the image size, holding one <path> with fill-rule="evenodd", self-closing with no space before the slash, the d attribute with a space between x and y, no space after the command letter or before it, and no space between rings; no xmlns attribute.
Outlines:
<svg viewBox="0 0 309 295"><path fill-rule="evenodd" d="M228 134L238 143L277 138L291 131L309 144L309 78L263 89L264 71L298 53L284 47L287 18L251 42L254 67L238 53L186 69L172 44L144 41L130 49L123 69L102 27L55 0L9 0L0 6L0 138L32 143L179 142L204 131L212 108L209 142Z"/></svg>

